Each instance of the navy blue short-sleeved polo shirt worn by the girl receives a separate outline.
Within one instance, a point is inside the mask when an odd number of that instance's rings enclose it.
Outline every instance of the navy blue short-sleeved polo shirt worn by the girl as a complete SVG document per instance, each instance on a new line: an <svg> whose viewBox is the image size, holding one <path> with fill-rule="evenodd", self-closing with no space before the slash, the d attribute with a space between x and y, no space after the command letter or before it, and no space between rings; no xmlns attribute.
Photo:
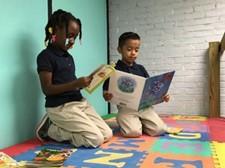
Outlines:
<svg viewBox="0 0 225 168"><path fill-rule="evenodd" d="M52 84L54 85L77 79L72 55L52 45L49 45L38 55L37 71L38 73L41 71L52 72ZM57 107L67 102L80 101L82 98L80 89L46 96L45 107Z"/></svg>

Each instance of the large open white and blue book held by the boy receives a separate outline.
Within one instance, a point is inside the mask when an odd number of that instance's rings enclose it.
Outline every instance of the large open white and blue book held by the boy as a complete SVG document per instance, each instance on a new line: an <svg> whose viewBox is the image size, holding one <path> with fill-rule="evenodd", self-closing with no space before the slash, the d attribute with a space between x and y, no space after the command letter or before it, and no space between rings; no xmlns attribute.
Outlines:
<svg viewBox="0 0 225 168"><path fill-rule="evenodd" d="M111 103L142 110L163 102L175 71L144 78L116 70L109 80L109 93L113 94Z"/></svg>

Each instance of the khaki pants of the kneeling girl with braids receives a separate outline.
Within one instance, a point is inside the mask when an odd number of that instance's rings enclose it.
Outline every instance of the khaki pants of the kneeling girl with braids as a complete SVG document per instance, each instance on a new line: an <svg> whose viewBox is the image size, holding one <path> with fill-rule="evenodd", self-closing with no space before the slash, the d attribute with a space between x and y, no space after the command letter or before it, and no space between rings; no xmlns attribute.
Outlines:
<svg viewBox="0 0 225 168"><path fill-rule="evenodd" d="M56 141L70 141L76 147L98 147L112 137L112 130L85 99L46 111L52 121L48 135Z"/></svg>

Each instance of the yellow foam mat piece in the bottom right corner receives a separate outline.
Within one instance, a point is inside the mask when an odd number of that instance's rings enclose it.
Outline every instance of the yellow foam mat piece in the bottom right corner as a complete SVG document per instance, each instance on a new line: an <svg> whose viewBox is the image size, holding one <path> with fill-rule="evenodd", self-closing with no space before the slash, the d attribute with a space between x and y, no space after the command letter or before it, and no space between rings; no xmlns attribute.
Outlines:
<svg viewBox="0 0 225 168"><path fill-rule="evenodd" d="M225 143L213 141L211 149L215 168L225 168Z"/></svg>

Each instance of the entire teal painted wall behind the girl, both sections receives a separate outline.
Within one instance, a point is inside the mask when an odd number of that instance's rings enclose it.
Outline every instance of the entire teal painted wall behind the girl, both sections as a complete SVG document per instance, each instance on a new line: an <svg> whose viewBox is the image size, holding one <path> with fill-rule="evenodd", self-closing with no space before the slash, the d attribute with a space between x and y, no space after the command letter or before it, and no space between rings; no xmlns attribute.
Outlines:
<svg viewBox="0 0 225 168"><path fill-rule="evenodd" d="M78 76L106 63L105 0L53 0L53 10L71 11L83 23L82 45L71 50ZM36 72L36 56L44 48L47 1L8 0L0 6L0 149L34 136L44 114L44 96ZM13 12L11 12L13 11ZM107 113L101 88L84 92L100 115Z"/></svg>

